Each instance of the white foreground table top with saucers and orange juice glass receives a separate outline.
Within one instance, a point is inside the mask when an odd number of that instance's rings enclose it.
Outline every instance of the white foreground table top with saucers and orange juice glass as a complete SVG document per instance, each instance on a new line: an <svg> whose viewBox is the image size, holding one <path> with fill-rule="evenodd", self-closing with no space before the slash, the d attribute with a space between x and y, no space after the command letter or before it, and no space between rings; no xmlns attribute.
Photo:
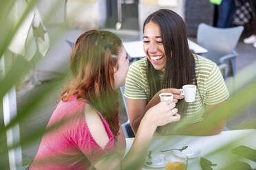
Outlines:
<svg viewBox="0 0 256 170"><path fill-rule="evenodd" d="M134 138L126 138L127 151L131 147ZM149 149L152 151L160 151L163 149L176 148L180 145L191 145L195 149L200 149L201 154L196 158L189 159L188 170L200 170L200 157L211 160L213 163L217 163L217 167L213 169L220 169L226 165L231 165L237 158L242 158L231 153L231 150L239 145L246 145L247 147L256 149L256 130L231 130L223 131L220 134L214 136L156 136L151 141ZM228 146L225 150L213 153L216 149ZM223 154L228 156L223 157ZM241 159L247 162L253 169L256 168L256 162L248 160L246 158ZM149 169L146 166L142 169ZM164 169L164 168L158 168Z"/></svg>

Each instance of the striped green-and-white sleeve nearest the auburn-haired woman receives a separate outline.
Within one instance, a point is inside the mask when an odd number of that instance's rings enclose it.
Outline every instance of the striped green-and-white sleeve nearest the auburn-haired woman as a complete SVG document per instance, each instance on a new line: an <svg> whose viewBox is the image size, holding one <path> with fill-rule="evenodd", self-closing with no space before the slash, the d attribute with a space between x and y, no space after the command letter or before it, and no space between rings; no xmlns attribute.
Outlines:
<svg viewBox="0 0 256 170"><path fill-rule="evenodd" d="M128 99L147 99L147 76L145 63L141 60L129 67L125 80L125 97Z"/></svg>

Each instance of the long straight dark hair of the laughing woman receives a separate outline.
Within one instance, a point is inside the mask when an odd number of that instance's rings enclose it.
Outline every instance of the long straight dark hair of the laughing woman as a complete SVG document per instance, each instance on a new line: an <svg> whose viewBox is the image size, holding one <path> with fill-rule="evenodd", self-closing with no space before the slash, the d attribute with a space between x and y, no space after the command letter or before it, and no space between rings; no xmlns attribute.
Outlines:
<svg viewBox="0 0 256 170"><path fill-rule="evenodd" d="M162 88L182 88L185 84L196 84L195 58L189 50L186 25L182 18L171 10L161 9L149 15L143 25L149 22L159 25L166 55L166 65L162 81L160 71L153 68L147 60L147 80L149 81L150 99ZM149 99L149 100L150 100ZM187 108L184 100L178 101L179 112Z"/></svg>

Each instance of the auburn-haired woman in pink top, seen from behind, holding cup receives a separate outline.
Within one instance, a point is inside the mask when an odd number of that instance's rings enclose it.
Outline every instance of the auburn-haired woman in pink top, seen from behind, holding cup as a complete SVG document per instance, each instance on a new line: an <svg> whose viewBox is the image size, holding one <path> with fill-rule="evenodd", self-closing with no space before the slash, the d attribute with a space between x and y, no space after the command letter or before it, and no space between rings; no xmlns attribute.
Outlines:
<svg viewBox="0 0 256 170"><path fill-rule="evenodd" d="M128 67L127 53L115 34L90 30L79 36L70 60L74 77L29 169L142 168L156 127L178 121L180 115L171 101L149 109L123 158L126 143L116 88L125 84Z"/></svg>

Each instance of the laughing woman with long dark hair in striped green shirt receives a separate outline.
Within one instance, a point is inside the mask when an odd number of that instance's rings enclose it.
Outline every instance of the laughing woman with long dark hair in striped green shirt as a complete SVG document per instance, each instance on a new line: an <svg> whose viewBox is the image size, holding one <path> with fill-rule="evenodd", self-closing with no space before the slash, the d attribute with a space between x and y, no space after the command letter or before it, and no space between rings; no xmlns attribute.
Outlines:
<svg viewBox="0 0 256 170"><path fill-rule="evenodd" d="M229 93L217 65L206 58L189 51L186 25L182 18L171 10L158 10L149 15L143 25L144 51L147 55L131 64L125 83L125 97L131 127L136 133L145 111L160 102L163 92L174 94L182 119L200 127L206 116L206 106L220 104L228 99ZM185 103L180 88L186 84L197 86L196 98ZM160 128L160 133L173 132L170 123ZM225 120L217 123L215 129L203 134L217 134L222 131ZM162 130L161 130L162 129ZM185 128L182 134L200 134Z"/></svg>

